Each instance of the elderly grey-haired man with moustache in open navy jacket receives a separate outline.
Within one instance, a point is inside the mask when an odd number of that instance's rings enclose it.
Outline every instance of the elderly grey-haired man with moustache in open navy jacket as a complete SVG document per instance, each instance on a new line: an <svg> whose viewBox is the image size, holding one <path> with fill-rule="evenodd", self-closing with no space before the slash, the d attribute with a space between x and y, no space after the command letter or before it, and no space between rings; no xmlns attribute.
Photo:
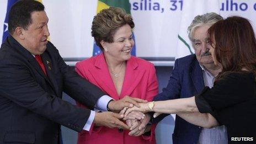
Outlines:
<svg viewBox="0 0 256 144"><path fill-rule="evenodd" d="M216 13L206 13L194 18L188 32L195 54L175 60L167 87L154 97L154 101L188 98L201 92L205 86L211 88L214 85L214 79L222 67L214 65L209 52L211 44L207 39L207 30L221 19L223 18ZM166 114L158 116L153 122L158 122L164 116ZM207 114L177 114L173 143L227 143L225 126L212 129L201 127L207 119Z"/></svg>

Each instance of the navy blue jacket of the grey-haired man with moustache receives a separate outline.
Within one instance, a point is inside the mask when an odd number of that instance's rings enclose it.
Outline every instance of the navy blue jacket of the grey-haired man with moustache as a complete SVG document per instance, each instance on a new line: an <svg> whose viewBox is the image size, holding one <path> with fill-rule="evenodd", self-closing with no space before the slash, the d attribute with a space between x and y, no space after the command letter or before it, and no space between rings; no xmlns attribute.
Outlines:
<svg viewBox="0 0 256 144"><path fill-rule="evenodd" d="M204 78L202 77L202 68L198 60L196 60L196 56L189 55L178 58L175 61L167 87L163 88L163 92L154 97L153 100L188 98L200 93L203 88ZM153 122L162 120L163 117L163 115L159 116ZM173 133L174 144L197 143L200 132L201 127L190 124L176 115Z"/></svg>

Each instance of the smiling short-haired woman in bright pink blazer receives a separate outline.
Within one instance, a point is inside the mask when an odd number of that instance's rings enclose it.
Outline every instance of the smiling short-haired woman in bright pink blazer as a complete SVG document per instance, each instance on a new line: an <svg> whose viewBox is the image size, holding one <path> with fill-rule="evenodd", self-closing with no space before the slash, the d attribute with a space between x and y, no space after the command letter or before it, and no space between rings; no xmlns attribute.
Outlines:
<svg viewBox="0 0 256 144"><path fill-rule="evenodd" d="M121 8L110 7L98 13L93 19L92 36L103 54L78 62L76 72L115 100L129 95L151 101L158 94L156 70L152 63L131 56L132 28L131 15ZM140 120L128 118L126 123L133 127L140 124ZM89 132L78 134L78 143L156 143L155 127L136 129L129 135L129 130L92 125Z"/></svg>

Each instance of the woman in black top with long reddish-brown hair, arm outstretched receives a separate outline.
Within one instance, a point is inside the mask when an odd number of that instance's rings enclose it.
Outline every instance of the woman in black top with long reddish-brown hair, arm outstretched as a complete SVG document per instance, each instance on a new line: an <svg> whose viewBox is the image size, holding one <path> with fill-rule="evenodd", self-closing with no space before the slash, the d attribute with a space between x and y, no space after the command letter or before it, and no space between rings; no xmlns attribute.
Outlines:
<svg viewBox="0 0 256 144"><path fill-rule="evenodd" d="M214 87L205 87L191 98L140 104L140 108L134 106L126 114L210 113L201 120L185 120L203 127L226 125L229 143L256 141L256 40L252 25L245 18L228 17L212 25L208 34L215 65L222 65Z"/></svg>

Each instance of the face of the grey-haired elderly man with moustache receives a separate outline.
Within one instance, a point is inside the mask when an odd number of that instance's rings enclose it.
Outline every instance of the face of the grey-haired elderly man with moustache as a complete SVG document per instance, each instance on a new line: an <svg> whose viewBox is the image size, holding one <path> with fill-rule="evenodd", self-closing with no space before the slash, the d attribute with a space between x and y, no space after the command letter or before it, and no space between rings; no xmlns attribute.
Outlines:
<svg viewBox="0 0 256 144"><path fill-rule="evenodd" d="M207 39L207 30L210 26L211 25L201 25L198 28L195 28L192 35L192 44L195 49L196 59L201 65L214 63L209 52L211 49L211 42Z"/></svg>

